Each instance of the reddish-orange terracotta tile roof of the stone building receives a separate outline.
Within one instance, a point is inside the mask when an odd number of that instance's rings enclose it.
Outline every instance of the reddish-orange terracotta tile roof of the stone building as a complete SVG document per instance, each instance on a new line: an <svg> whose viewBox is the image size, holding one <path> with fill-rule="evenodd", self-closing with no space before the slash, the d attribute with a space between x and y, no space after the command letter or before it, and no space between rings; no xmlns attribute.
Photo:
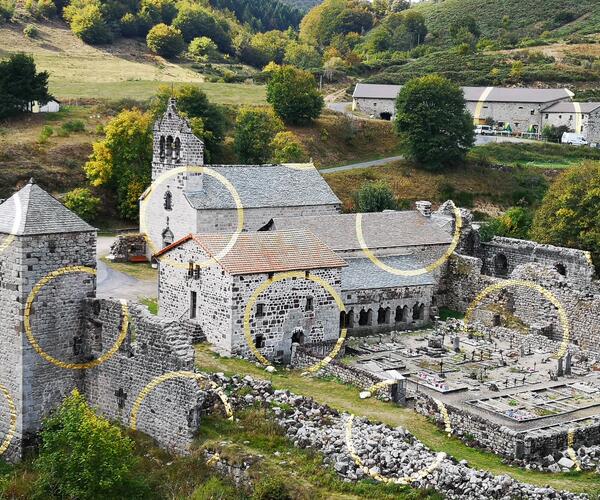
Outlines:
<svg viewBox="0 0 600 500"><path fill-rule="evenodd" d="M193 240L209 256L217 257L231 234L188 235L156 254L160 257L182 243ZM229 274L259 274L346 266L325 243L307 230L241 233L235 245L219 260Z"/></svg>

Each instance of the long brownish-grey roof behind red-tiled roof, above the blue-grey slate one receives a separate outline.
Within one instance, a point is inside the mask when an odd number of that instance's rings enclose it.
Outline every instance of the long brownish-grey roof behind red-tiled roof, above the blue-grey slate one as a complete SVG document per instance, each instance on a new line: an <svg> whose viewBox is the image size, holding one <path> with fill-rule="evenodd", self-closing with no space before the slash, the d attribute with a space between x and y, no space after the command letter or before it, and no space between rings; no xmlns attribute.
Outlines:
<svg viewBox="0 0 600 500"><path fill-rule="evenodd" d="M446 219L425 217L418 211L362 214L363 238L369 248L396 248L420 245L449 245L452 235L440 224ZM273 229L305 228L315 233L333 250L360 250L356 236L356 214L311 217L276 217Z"/></svg>

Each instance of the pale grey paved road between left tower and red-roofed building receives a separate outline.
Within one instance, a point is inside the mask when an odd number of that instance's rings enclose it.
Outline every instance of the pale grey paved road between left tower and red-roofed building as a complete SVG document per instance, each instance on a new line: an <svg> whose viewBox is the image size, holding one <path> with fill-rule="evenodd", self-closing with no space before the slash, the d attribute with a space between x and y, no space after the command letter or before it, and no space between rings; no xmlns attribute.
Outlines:
<svg viewBox="0 0 600 500"><path fill-rule="evenodd" d="M156 297L158 289L154 280L140 280L128 274L115 271L103 260L101 260L101 257L108 255L110 252L110 246L113 241L114 237L112 236L98 237L97 296L101 298L113 297L126 300L139 300L143 297Z"/></svg>

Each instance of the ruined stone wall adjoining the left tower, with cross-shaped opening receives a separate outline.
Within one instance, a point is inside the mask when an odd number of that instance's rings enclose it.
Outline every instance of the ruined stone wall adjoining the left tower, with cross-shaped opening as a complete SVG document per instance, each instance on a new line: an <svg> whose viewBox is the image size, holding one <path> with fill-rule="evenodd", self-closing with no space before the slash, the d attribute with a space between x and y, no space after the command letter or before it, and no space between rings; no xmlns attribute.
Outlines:
<svg viewBox="0 0 600 500"><path fill-rule="evenodd" d="M93 358L115 344L123 321L116 300L87 302L84 337ZM130 426L134 402L156 377L194 370L189 329L129 305L129 329L119 350L105 363L86 370L84 394L105 417ZM137 415L138 430L177 454L186 454L198 429L206 393L195 380L177 378L148 391Z"/></svg>

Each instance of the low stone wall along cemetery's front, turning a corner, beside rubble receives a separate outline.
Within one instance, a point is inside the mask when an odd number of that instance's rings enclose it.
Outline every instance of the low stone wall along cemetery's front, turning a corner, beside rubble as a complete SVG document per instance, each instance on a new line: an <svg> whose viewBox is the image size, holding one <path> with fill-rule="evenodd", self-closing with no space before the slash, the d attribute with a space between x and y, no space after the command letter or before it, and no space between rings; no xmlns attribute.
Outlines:
<svg viewBox="0 0 600 500"><path fill-rule="evenodd" d="M557 456L566 450L568 433L574 429L573 449L600 444L600 417L565 422L559 425L538 427L529 431L515 431L486 419L483 415L466 412L444 404L450 418L453 434L461 440L475 442L478 446L511 460L540 463L548 455ZM415 411L434 418L445 425L440 408L433 398L423 392L415 395ZM543 425L543 420L540 421Z"/></svg>

